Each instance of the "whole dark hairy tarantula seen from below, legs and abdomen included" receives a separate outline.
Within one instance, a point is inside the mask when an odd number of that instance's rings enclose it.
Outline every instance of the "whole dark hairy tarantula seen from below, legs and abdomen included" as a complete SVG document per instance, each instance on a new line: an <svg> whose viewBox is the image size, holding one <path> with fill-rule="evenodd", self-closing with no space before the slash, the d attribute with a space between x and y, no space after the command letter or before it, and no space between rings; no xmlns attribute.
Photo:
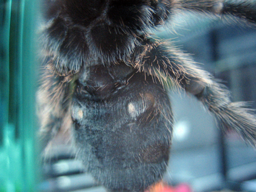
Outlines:
<svg viewBox="0 0 256 192"><path fill-rule="evenodd" d="M166 170L172 112L168 86L195 95L256 146L256 118L174 45L150 34L181 11L256 23L255 1L43 0L40 135L71 135L85 170L109 191L144 191Z"/></svg>

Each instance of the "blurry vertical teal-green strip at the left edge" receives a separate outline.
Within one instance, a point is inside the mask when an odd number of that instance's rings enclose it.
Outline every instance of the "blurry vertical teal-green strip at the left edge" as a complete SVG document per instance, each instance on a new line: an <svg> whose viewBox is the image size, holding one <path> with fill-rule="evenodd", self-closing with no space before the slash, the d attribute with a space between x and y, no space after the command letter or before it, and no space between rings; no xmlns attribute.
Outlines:
<svg viewBox="0 0 256 192"><path fill-rule="evenodd" d="M37 191L37 5L36 0L1 0L0 192Z"/></svg>

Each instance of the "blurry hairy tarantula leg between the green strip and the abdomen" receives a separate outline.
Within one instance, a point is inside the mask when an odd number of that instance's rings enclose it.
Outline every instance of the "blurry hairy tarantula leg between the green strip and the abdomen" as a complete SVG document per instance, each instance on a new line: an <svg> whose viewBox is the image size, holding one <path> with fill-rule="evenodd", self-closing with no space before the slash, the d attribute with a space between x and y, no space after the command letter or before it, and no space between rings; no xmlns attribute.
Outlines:
<svg viewBox="0 0 256 192"><path fill-rule="evenodd" d="M70 116L72 74L60 76L47 61L43 66L43 74L36 98L40 119L39 135L42 139L43 156L51 156L51 149L56 142L71 141ZM59 144L60 144L59 143Z"/></svg>

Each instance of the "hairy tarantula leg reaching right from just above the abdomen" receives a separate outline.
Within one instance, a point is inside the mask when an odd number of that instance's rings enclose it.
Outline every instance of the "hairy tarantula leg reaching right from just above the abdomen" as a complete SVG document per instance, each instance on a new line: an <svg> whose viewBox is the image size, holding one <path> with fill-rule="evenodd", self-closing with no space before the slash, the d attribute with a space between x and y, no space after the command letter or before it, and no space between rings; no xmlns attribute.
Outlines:
<svg viewBox="0 0 256 192"><path fill-rule="evenodd" d="M132 56L134 68L164 85L171 79L172 84L195 95L216 116L222 130L230 128L256 147L256 116L245 102L231 102L228 89L176 47L147 38L142 45Z"/></svg>

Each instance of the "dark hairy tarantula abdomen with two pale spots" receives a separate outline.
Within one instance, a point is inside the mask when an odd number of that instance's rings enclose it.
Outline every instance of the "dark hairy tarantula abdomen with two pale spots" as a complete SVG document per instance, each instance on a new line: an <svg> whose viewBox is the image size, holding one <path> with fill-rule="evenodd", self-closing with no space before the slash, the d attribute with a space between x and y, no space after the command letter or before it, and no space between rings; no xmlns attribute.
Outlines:
<svg viewBox="0 0 256 192"><path fill-rule="evenodd" d="M172 114L163 86L121 63L85 67L72 119L77 156L109 191L142 192L162 179Z"/></svg>

